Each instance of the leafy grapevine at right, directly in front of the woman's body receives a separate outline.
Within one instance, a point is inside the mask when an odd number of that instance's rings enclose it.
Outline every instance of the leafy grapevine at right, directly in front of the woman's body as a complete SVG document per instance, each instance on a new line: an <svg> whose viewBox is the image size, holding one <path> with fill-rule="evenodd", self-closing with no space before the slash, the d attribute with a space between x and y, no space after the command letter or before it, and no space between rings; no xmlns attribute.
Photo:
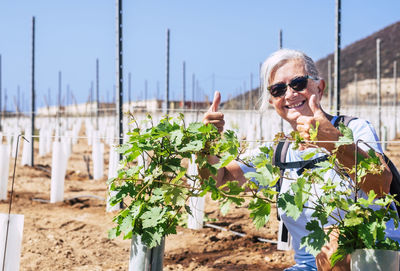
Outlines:
<svg viewBox="0 0 400 271"><path fill-rule="evenodd" d="M353 136L351 130L343 124L340 124L339 130L343 136L336 143L333 153L327 153L328 160L318 163L318 167L313 170L306 170L293 181L291 189L281 193L278 207L294 220L304 209L311 209L313 219L306 225L310 233L302 238L301 246L316 256L330 238L337 238L338 248L330 259L332 266L351 254L353 270L375 270L370 265L363 269L365 266L360 267L360 260L371 264L368 262L376 260L376 254L372 255L372 252L383 252L394 256L391 262L385 258L385 270L390 270L388 268L392 263L398 270L399 243L385 233L387 223L394 223L394 227L398 228L399 218L394 205L398 202L393 195L377 198L373 190L362 196L360 189L366 174L379 174L383 165L376 153L370 150L367 157L357 153L354 167L346 169L339 163L336 154L341 145L353 143ZM316 140L316 131L312 140ZM299 147L302 139L298 135L292 138ZM304 155L305 160L318 152L326 152L315 144L308 144L315 148ZM334 171L341 178L326 178L328 171ZM354 180L348 177L351 173L356 176ZM306 202L311 204L305 206Z"/></svg>

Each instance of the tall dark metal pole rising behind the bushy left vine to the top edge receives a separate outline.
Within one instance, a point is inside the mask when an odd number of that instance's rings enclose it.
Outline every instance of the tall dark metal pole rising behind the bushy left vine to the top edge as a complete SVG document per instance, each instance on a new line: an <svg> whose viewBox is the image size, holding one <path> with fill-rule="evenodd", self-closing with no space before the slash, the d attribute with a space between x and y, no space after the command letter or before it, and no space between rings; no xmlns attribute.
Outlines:
<svg viewBox="0 0 400 271"><path fill-rule="evenodd" d="M116 84L116 111L118 115L118 138L119 144L123 143L123 115L122 115L122 103L123 103L123 65L122 65L122 0L116 0L117 4L117 84ZM120 154L120 160L122 160L122 154Z"/></svg>

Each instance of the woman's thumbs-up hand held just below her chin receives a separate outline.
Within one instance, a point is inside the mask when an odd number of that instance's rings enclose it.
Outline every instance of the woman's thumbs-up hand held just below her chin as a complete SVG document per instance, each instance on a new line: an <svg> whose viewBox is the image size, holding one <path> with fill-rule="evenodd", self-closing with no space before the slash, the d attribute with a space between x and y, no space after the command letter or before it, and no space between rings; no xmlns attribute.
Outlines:
<svg viewBox="0 0 400 271"><path fill-rule="evenodd" d="M317 100L315 94L311 95L308 100L308 106L311 109L311 116L301 115L296 120L296 130L300 133L301 137L305 140L311 140L310 128L316 127L317 122L319 123L317 140L318 141L337 141L340 136L340 132L336 129L332 123L328 120L324 111ZM328 151L333 150L334 143L331 142L316 142L320 147L327 149Z"/></svg>

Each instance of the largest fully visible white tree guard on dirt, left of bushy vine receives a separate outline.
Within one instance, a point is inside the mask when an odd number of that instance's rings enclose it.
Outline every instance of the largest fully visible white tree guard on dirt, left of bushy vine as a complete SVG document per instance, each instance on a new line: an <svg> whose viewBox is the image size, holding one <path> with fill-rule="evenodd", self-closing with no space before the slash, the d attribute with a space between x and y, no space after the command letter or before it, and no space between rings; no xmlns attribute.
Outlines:
<svg viewBox="0 0 400 271"><path fill-rule="evenodd" d="M64 180L67 170L67 158L60 141L53 142L51 161L51 191L50 203L64 200Z"/></svg>

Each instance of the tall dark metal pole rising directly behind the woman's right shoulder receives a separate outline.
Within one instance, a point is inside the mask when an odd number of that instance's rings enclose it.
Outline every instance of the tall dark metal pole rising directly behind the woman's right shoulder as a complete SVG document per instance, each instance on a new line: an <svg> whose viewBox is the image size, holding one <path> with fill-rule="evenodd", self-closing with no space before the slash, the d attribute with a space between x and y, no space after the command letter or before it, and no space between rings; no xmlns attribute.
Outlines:
<svg viewBox="0 0 400 271"><path fill-rule="evenodd" d="M335 28L335 110L336 115L340 115L340 14L341 13L341 0L336 0L336 28Z"/></svg>

